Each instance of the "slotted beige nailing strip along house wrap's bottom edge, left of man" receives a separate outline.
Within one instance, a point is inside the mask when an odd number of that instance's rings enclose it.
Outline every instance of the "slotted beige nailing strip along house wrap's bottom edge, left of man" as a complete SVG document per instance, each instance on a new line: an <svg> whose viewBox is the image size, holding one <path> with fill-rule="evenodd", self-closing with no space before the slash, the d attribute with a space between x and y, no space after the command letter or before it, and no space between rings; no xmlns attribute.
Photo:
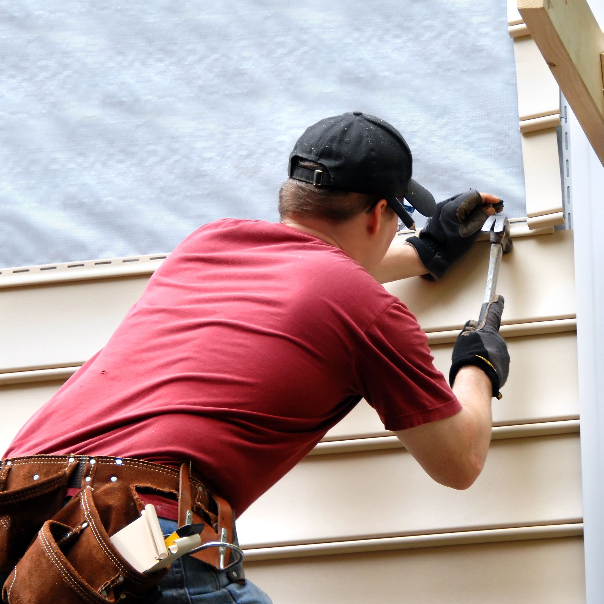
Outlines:
<svg viewBox="0 0 604 604"><path fill-rule="evenodd" d="M37 283L85 281L128 275L151 274L168 254L127 256L101 260L80 260L60 264L14 266L0 269L0 288L14 288Z"/></svg>

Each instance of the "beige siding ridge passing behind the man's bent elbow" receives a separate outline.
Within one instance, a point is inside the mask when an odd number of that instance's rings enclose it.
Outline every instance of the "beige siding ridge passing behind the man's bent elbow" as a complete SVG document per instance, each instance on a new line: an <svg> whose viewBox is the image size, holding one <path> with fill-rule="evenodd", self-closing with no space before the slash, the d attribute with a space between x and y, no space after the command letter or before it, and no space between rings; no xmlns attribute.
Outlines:
<svg viewBox="0 0 604 604"><path fill-rule="evenodd" d="M579 419L562 421L525 423L515 426L495 426L491 440L528 439L533 436L551 436L554 434L574 434L579 432ZM333 455L339 453L358 453L362 451L383 451L384 449L403 449L403 444L396 436L378 436L352 440L331 440L321 442L309 452L315 455Z"/></svg>

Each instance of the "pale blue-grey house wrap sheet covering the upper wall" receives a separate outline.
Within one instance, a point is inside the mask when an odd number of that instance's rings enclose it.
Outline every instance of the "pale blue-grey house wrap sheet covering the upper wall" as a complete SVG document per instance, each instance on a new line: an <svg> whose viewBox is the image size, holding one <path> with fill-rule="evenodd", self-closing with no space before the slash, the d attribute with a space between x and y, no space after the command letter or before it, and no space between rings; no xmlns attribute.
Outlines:
<svg viewBox="0 0 604 604"><path fill-rule="evenodd" d="M276 221L294 141L353 110L399 128L437 199L525 214L504 0L0 0L0 57L0 266Z"/></svg>

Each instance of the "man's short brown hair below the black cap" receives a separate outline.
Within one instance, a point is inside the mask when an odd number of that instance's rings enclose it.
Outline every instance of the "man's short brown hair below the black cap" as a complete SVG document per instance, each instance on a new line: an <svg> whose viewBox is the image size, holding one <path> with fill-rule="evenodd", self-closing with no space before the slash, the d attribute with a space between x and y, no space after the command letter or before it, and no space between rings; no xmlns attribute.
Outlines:
<svg viewBox="0 0 604 604"><path fill-rule="evenodd" d="M297 164L311 170L321 168L321 164L306 159L297 159ZM377 204L382 198L332 187L316 187L309 182L288 178L279 191L279 215L281 220L299 217L344 222Z"/></svg>

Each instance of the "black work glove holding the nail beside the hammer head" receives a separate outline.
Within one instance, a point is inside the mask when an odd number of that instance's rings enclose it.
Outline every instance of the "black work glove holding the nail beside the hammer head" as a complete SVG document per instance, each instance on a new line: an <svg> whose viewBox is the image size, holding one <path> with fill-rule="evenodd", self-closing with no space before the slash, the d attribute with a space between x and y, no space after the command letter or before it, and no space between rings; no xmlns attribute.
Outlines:
<svg viewBox="0 0 604 604"><path fill-rule="evenodd" d="M497 207L503 206L502 202ZM478 237L488 214L483 210L483 198L478 191L456 195L436 205L436 213L420 231L419 237L409 237L429 275L439 280L446 269L461 258Z"/></svg>

